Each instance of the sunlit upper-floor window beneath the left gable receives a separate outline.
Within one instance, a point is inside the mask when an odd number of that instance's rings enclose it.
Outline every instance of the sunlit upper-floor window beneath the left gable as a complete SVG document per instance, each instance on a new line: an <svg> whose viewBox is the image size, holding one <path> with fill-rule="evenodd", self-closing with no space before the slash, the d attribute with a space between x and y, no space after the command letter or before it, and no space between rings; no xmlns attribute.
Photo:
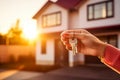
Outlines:
<svg viewBox="0 0 120 80"><path fill-rule="evenodd" d="M42 16L42 27L54 27L61 24L61 12L55 12Z"/></svg>

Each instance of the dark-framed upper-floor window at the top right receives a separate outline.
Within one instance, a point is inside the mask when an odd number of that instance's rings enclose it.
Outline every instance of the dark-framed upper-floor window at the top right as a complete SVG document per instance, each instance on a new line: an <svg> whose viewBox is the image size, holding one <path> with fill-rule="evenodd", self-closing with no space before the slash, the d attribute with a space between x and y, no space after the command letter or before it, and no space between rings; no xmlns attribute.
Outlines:
<svg viewBox="0 0 120 80"><path fill-rule="evenodd" d="M90 4L87 6L87 19L96 20L113 17L113 0Z"/></svg>

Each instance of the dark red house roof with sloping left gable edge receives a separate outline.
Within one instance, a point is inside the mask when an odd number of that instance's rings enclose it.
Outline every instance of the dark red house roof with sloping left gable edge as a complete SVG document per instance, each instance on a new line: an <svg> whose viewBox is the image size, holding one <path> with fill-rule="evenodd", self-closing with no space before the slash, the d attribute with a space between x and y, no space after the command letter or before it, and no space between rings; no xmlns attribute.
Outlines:
<svg viewBox="0 0 120 80"><path fill-rule="evenodd" d="M48 0L46 4L33 16L33 18L37 18L41 14L41 12L43 12L50 4L57 4L67 10L72 10L81 1L85 1L85 0L58 0L56 2L52 2L51 0Z"/></svg>

